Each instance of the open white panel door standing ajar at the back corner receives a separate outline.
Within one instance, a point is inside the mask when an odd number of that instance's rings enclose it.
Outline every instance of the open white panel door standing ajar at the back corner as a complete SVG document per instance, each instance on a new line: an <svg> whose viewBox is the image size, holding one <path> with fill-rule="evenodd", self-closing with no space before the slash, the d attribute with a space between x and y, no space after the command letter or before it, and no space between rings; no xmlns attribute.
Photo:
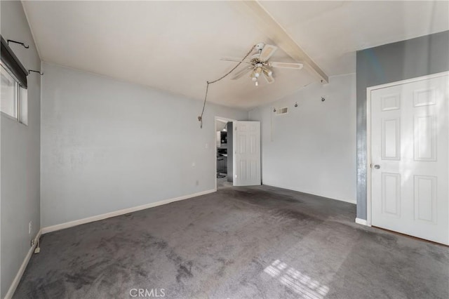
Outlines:
<svg viewBox="0 0 449 299"><path fill-rule="evenodd" d="M233 121L234 186L260 185L260 121Z"/></svg>

